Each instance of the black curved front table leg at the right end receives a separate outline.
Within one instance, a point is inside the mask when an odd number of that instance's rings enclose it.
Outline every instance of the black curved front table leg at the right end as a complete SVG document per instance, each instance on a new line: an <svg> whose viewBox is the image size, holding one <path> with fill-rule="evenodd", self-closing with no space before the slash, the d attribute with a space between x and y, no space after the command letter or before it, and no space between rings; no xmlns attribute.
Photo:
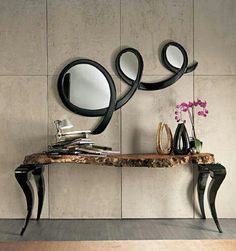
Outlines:
<svg viewBox="0 0 236 251"><path fill-rule="evenodd" d="M215 221L215 224L219 230L220 233L223 233L216 213L215 208L215 199L218 189L220 188L221 183L223 182L225 176L226 176L226 170L225 167L220 164L211 165L210 169L210 175L211 175L211 183L208 188L208 201L211 209L212 217Z"/></svg>

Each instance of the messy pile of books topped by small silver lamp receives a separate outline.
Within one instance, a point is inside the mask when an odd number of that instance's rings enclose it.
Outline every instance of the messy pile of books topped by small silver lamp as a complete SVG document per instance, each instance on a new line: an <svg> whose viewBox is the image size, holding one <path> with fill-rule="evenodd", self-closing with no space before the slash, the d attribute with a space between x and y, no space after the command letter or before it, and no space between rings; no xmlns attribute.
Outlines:
<svg viewBox="0 0 236 251"><path fill-rule="evenodd" d="M89 138L90 131L65 131L73 127L68 120L56 120L56 143L49 146L46 152L48 155L107 155L118 154L119 151L112 151L111 147L95 145Z"/></svg>

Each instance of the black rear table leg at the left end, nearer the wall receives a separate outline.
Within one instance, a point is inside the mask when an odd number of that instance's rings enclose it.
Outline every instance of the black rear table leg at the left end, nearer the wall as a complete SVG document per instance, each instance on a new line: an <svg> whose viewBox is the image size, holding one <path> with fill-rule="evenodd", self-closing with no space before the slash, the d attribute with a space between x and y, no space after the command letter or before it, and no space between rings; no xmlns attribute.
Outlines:
<svg viewBox="0 0 236 251"><path fill-rule="evenodd" d="M38 212L37 212L37 221L40 219L42 208L43 208L43 200L45 194L45 183L43 177L43 166L37 166L36 169L32 172L34 175L37 191L38 191Z"/></svg>

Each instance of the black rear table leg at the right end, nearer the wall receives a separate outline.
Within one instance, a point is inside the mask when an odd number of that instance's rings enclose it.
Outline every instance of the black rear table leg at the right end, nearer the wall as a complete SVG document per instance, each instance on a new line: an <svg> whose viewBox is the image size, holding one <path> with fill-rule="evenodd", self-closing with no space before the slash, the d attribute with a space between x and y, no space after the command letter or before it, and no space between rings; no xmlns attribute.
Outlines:
<svg viewBox="0 0 236 251"><path fill-rule="evenodd" d="M199 202L203 219L206 219L206 214L205 214L205 209L204 209L204 193L206 189L206 182L207 182L208 176L209 176L208 169L206 170L204 167L199 166L197 191L198 191L198 202Z"/></svg>

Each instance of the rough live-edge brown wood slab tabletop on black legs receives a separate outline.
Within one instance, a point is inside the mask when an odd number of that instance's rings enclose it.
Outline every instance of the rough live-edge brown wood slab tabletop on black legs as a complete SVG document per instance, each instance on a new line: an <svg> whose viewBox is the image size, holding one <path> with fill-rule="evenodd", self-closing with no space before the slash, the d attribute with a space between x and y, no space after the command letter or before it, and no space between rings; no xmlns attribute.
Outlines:
<svg viewBox="0 0 236 251"><path fill-rule="evenodd" d="M56 155L32 154L25 157L24 164L78 163L116 167L173 167L183 164L212 164L211 153L189 155L121 154L121 155Z"/></svg>

